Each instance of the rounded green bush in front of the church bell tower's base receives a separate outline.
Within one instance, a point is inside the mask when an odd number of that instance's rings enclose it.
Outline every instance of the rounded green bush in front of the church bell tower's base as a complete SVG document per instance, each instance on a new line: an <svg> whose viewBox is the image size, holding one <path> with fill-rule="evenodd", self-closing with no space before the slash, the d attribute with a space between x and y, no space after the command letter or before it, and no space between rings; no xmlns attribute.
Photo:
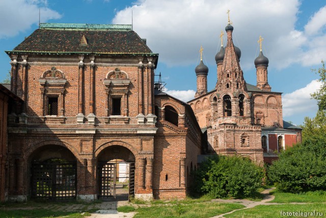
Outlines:
<svg viewBox="0 0 326 218"><path fill-rule="evenodd" d="M193 190L213 198L253 197L263 175L263 169L248 158L214 157L204 161L194 173Z"/></svg>

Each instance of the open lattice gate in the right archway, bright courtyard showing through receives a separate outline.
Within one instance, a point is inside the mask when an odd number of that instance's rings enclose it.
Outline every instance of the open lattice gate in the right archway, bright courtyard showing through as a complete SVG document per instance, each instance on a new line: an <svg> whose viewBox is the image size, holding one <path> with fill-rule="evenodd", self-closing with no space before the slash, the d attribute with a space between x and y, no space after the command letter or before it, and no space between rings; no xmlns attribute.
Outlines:
<svg viewBox="0 0 326 218"><path fill-rule="evenodd" d="M127 165L125 171L121 165ZM130 200L134 196L134 169L134 162L99 162L99 198Z"/></svg>

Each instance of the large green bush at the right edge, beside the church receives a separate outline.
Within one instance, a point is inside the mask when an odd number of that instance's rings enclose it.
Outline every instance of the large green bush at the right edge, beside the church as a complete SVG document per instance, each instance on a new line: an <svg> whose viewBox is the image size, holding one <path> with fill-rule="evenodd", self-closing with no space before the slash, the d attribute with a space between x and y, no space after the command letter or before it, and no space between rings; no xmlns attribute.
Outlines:
<svg viewBox="0 0 326 218"><path fill-rule="evenodd" d="M268 169L282 192L301 193L326 188L326 137L306 139L282 152Z"/></svg>

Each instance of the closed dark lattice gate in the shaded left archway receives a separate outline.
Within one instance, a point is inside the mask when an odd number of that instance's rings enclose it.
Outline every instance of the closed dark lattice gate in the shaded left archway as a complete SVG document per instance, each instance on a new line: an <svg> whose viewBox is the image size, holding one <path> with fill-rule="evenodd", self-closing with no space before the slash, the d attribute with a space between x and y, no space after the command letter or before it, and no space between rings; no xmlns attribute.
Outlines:
<svg viewBox="0 0 326 218"><path fill-rule="evenodd" d="M32 198L76 199L76 162L32 162Z"/></svg>

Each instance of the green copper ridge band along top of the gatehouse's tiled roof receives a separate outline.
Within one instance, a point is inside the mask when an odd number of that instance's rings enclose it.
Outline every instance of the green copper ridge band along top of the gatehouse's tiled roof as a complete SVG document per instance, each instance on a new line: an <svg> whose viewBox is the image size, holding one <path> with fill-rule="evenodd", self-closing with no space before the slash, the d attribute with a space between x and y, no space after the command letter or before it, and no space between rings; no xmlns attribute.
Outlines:
<svg viewBox="0 0 326 218"><path fill-rule="evenodd" d="M41 23L41 30L131 31L131 25L88 23Z"/></svg>

